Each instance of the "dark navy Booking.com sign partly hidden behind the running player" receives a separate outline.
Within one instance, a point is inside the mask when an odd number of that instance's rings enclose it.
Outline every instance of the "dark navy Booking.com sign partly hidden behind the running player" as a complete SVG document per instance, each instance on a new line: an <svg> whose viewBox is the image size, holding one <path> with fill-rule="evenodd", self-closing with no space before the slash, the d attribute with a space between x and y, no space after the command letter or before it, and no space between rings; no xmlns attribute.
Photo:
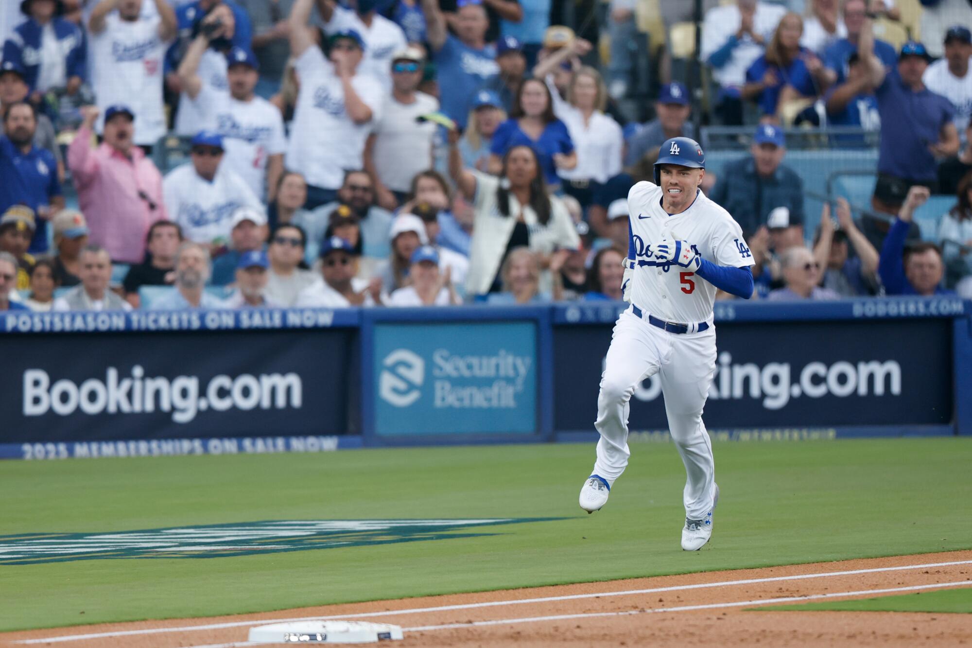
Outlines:
<svg viewBox="0 0 972 648"><path fill-rule="evenodd" d="M917 425L952 419L952 320L720 323L706 425ZM554 426L593 431L610 326L554 333ZM633 430L666 429L662 381L631 399Z"/></svg>

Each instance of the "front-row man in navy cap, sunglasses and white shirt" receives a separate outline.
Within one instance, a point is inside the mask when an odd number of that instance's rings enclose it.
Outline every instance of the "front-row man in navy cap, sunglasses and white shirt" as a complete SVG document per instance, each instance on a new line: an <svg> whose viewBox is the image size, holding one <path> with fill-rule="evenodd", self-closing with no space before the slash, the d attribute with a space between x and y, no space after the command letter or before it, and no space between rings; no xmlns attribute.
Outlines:
<svg viewBox="0 0 972 648"><path fill-rule="evenodd" d="M339 236L321 245L321 278L300 291L296 306L347 308L381 304L381 281L360 279L358 254L350 241Z"/></svg>

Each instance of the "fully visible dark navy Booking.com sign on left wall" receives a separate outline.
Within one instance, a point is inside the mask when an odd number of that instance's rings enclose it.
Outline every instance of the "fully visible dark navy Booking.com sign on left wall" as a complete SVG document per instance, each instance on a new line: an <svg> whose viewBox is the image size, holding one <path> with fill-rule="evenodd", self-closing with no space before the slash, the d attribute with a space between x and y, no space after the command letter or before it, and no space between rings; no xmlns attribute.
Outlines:
<svg viewBox="0 0 972 648"><path fill-rule="evenodd" d="M347 431L351 332L0 338L0 443Z"/></svg>

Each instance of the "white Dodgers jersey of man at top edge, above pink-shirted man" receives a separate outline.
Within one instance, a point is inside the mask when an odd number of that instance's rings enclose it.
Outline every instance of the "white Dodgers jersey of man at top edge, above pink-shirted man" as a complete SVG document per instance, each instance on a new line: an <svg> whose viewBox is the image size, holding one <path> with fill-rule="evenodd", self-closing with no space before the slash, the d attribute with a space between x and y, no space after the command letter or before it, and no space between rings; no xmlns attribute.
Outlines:
<svg viewBox="0 0 972 648"><path fill-rule="evenodd" d="M135 113L135 143L151 146L165 134L162 110L162 64L168 43L158 37L161 18L122 20L105 17L105 29L90 39L91 87L101 134L105 109L123 104Z"/></svg>

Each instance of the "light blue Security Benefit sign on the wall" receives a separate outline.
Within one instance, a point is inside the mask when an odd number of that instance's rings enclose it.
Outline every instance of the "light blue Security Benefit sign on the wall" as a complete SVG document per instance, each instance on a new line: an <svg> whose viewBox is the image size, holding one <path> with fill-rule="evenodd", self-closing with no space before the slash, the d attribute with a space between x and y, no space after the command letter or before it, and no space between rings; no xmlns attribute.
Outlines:
<svg viewBox="0 0 972 648"><path fill-rule="evenodd" d="M375 432L533 433L532 322L375 325Z"/></svg>

